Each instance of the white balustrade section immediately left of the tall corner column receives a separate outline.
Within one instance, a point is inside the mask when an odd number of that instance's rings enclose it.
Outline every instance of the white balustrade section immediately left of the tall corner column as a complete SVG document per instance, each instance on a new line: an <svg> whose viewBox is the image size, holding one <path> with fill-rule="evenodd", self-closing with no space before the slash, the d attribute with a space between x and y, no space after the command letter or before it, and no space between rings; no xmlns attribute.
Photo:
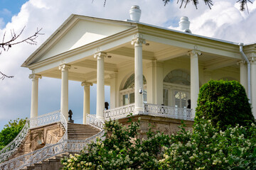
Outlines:
<svg viewBox="0 0 256 170"><path fill-rule="evenodd" d="M118 118L125 118L127 115L134 113L134 103L121 106L119 108L112 108L110 110L104 111L104 118L105 119L118 119Z"/></svg>

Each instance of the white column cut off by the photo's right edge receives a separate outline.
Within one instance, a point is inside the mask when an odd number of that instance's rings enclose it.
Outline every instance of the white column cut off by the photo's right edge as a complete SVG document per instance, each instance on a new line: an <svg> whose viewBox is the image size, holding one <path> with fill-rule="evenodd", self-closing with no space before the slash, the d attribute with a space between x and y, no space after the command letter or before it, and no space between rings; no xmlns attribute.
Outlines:
<svg viewBox="0 0 256 170"><path fill-rule="evenodd" d="M252 114L256 119L256 57L250 58L251 63L251 92L252 92Z"/></svg>

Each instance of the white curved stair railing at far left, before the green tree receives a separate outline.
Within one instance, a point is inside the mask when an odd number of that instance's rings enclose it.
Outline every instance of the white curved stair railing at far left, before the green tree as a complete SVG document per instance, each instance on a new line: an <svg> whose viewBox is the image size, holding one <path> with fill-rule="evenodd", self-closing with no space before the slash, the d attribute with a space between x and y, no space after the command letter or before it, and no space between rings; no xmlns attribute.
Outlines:
<svg viewBox="0 0 256 170"><path fill-rule="evenodd" d="M29 119L26 120L26 124L23 126L21 132L18 133L18 135L15 137L13 141L9 143L9 145L6 145L4 149L1 149L0 151L0 162L4 162L8 157L10 157L18 148L18 146L21 144L23 139L26 137L29 130Z"/></svg>

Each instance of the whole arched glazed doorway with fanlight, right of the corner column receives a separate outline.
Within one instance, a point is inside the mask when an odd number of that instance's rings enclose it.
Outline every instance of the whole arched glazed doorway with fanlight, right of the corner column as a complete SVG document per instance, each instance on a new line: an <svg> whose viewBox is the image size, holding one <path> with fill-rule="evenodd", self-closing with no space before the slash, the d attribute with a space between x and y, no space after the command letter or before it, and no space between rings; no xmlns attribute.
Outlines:
<svg viewBox="0 0 256 170"><path fill-rule="evenodd" d="M190 74L181 70L174 69L164 77L163 103L165 106L175 106L186 108L190 98Z"/></svg>

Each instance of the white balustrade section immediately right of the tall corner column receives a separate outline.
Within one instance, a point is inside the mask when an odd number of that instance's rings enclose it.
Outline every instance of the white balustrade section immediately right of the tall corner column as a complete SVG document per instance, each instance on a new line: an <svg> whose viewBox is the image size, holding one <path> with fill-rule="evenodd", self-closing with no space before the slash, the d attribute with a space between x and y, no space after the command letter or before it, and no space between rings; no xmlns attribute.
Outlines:
<svg viewBox="0 0 256 170"><path fill-rule="evenodd" d="M176 108L171 106L159 106L155 104L144 103L144 114L156 115L167 118L181 120L193 120L190 108Z"/></svg>

